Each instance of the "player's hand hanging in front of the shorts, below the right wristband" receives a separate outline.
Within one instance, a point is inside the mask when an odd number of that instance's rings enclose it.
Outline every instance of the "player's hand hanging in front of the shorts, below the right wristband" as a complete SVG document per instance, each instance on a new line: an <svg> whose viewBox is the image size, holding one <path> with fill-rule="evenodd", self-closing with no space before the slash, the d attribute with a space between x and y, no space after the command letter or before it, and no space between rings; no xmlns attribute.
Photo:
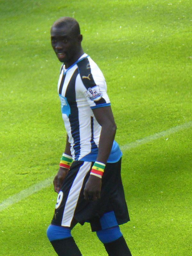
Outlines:
<svg viewBox="0 0 192 256"><path fill-rule="evenodd" d="M90 175L84 188L85 200L95 201L100 199L101 179L95 175Z"/></svg>

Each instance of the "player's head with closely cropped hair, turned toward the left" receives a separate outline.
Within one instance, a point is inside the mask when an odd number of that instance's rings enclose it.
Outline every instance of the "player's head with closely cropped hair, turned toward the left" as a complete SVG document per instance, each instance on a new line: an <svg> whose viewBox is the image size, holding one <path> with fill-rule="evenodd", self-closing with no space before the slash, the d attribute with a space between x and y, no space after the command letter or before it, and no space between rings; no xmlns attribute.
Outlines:
<svg viewBox="0 0 192 256"><path fill-rule="evenodd" d="M51 27L51 43L58 59L65 64L76 61L82 52L82 35L78 22L70 17L56 20Z"/></svg>

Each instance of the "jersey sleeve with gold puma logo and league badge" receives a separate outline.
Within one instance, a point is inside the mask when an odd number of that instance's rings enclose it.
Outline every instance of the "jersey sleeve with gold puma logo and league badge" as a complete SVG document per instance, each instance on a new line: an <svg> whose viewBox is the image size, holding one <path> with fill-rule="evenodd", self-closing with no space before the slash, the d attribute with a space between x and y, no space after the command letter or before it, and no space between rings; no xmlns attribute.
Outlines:
<svg viewBox="0 0 192 256"><path fill-rule="evenodd" d="M84 94L89 106L94 108L110 106L105 78L99 67L93 62L90 66L86 58L78 63L79 90Z"/></svg>

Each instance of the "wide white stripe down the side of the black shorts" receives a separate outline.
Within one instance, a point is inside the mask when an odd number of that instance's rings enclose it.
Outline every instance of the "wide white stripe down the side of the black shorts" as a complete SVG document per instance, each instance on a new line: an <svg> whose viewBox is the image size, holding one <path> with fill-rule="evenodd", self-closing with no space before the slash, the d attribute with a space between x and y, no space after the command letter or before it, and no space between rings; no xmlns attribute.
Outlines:
<svg viewBox="0 0 192 256"><path fill-rule="evenodd" d="M91 164L92 164L92 162L84 162L84 164L79 168L76 178L73 181L73 184L69 191L68 198L67 198L67 201L65 204L65 208L63 211L63 218L61 221L61 226L63 226L63 227L71 226L71 221L73 219L77 201L79 199L79 193L83 186L84 178L85 178L87 172L91 168Z"/></svg>

